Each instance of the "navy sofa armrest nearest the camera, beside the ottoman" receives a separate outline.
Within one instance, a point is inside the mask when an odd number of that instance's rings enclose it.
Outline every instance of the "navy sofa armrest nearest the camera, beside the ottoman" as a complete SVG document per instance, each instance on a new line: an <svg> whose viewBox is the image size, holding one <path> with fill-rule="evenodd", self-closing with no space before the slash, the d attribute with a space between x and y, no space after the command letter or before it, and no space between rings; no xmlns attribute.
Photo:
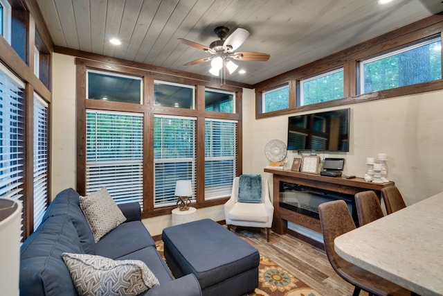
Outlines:
<svg viewBox="0 0 443 296"><path fill-rule="evenodd" d="M160 286L155 286L147 290L144 296L165 296L165 295L180 295L180 296L201 296L201 288L197 277L194 274L185 275L179 279L168 281Z"/></svg>

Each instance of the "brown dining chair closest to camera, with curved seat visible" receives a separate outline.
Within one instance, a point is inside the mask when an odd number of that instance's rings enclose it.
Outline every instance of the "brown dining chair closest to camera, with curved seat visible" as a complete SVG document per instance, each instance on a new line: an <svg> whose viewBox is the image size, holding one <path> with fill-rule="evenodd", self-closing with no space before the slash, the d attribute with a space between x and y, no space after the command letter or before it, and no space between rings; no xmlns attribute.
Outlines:
<svg viewBox="0 0 443 296"><path fill-rule="evenodd" d="M324 202L318 206L323 243L332 268L345 281L355 286L353 296L365 290L369 295L411 295L410 291L346 261L334 250L334 239L356 229L344 200Z"/></svg>

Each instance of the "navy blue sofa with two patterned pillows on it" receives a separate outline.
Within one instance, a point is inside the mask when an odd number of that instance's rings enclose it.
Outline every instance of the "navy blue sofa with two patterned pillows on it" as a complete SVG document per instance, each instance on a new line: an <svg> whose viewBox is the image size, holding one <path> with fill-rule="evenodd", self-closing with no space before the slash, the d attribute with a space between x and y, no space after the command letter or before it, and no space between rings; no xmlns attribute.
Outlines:
<svg viewBox="0 0 443 296"><path fill-rule="evenodd" d="M20 295L78 295L63 252L105 256L116 260L135 259L146 263L160 285L141 295L201 295L195 275L174 279L156 250L150 233L141 222L137 202L119 205L127 220L94 243L93 234L80 209L74 189L60 192L51 202L42 224L21 245Z"/></svg>

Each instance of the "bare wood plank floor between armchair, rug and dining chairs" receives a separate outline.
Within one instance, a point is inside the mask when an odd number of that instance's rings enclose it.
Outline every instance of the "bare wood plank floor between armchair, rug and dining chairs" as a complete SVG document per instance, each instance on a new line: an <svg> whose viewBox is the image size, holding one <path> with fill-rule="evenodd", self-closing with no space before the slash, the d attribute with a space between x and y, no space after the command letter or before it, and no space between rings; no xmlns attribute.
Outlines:
<svg viewBox="0 0 443 296"><path fill-rule="evenodd" d="M271 232L268 243L264 229L259 232L257 229L233 226L230 231L244 238L260 254L280 265L321 295L352 295L354 286L336 274L324 250L289 234L280 235ZM360 295L368 293L362 291Z"/></svg>

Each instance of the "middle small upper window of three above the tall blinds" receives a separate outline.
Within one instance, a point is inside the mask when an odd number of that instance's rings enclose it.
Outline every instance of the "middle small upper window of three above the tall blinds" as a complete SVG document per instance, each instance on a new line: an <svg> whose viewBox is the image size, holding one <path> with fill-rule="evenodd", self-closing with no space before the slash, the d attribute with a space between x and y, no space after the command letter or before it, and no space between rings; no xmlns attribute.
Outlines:
<svg viewBox="0 0 443 296"><path fill-rule="evenodd" d="M172 82L154 81L154 105L195 109L195 87Z"/></svg>

